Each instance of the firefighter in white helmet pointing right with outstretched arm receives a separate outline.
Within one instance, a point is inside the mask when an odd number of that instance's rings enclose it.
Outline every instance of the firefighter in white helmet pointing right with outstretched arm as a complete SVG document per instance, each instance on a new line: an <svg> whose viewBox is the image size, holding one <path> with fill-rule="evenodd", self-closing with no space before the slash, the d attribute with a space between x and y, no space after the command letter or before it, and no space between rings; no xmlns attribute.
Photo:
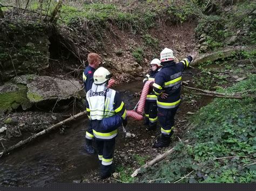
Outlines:
<svg viewBox="0 0 256 191"><path fill-rule="evenodd" d="M158 121L161 125L161 136L154 143L154 148L170 145L174 128L174 116L180 104L181 74L190 65L192 56L174 62L173 51L164 48L160 53L161 70L154 77L153 90L158 96Z"/></svg>

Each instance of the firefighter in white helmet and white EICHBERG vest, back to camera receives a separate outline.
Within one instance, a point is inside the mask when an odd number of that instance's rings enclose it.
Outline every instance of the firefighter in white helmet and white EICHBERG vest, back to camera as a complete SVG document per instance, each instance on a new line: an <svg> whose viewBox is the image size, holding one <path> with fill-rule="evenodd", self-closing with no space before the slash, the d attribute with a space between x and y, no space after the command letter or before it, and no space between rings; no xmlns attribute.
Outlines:
<svg viewBox="0 0 256 191"><path fill-rule="evenodd" d="M111 74L104 67L98 68L93 74L92 88L86 94L87 115L91 120L93 135L98 151L100 178L105 179L113 172L112 161L114 144L118 134L118 126L127 125L127 115L124 102L113 89L107 88ZM112 120L118 118L118 120ZM105 123L109 123L106 128Z"/></svg>

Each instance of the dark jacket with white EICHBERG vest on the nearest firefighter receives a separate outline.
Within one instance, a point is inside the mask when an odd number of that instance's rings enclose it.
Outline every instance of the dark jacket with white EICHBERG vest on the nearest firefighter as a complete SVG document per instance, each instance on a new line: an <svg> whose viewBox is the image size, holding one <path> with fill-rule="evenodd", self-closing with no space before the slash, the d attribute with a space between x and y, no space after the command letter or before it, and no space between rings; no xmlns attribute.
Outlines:
<svg viewBox="0 0 256 191"><path fill-rule="evenodd" d="M112 139L117 136L118 130L110 132L102 128L102 119L115 114L126 119L126 109L120 95L113 89L106 88L106 84L92 84L92 88L86 94L87 115L92 121L93 135L97 139ZM105 108L105 109L104 109ZM105 110L105 112L104 112Z"/></svg>

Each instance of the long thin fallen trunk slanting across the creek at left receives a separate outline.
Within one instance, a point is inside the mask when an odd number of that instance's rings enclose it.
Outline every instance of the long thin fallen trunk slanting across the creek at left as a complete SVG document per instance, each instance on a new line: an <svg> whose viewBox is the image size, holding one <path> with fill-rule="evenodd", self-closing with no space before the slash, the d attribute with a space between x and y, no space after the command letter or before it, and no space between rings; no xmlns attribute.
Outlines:
<svg viewBox="0 0 256 191"><path fill-rule="evenodd" d="M79 114L74 115L74 116L72 116L72 117L69 117L68 119L65 119L64 121L61 121L61 122L59 122L59 123L57 123L57 124L55 124L55 125L52 125L52 126L50 126L49 128L47 128L47 129L45 129L45 130L43 130L43 131L40 131L39 133L36 133L35 135L32 135L32 136L30 136L29 138L27 138L27 139L25 139L25 140L21 140L21 141L18 142L17 144L15 144L15 145L13 145L13 146L7 148L6 150L0 152L0 158L1 158L3 155L5 155L5 154L9 154L10 151L15 150L15 149L18 148L18 147L21 147L21 146L25 145L26 143L32 142L32 140L36 139L37 137L42 136L42 135L45 135L46 133L52 131L53 129L56 129L56 128L58 128L59 126L62 126L62 125L65 124L66 122L70 122L70 121L72 121L72 120L74 120L74 119L76 119L76 118L78 118L78 117L80 117L80 116L83 116L83 115L85 115L85 114L87 114L86 111L80 112Z"/></svg>

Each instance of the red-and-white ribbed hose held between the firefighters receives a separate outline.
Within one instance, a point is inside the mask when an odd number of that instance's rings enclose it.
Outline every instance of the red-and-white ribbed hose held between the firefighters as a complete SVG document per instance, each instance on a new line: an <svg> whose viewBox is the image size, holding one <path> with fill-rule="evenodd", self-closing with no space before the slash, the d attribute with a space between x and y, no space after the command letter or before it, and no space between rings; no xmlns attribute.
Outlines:
<svg viewBox="0 0 256 191"><path fill-rule="evenodd" d="M154 82L154 81L148 80L144 84L144 87L142 89L142 94L140 95L139 102L138 102L138 107L137 107L136 111L134 111L134 110L126 110L127 116L132 117L132 118L134 118L134 119L136 119L138 121L143 119L142 112L144 110L147 94L149 93L150 83L152 83L152 82ZM109 88L113 84L114 84L114 79L111 78L109 80L109 84L107 85L107 87Z"/></svg>

